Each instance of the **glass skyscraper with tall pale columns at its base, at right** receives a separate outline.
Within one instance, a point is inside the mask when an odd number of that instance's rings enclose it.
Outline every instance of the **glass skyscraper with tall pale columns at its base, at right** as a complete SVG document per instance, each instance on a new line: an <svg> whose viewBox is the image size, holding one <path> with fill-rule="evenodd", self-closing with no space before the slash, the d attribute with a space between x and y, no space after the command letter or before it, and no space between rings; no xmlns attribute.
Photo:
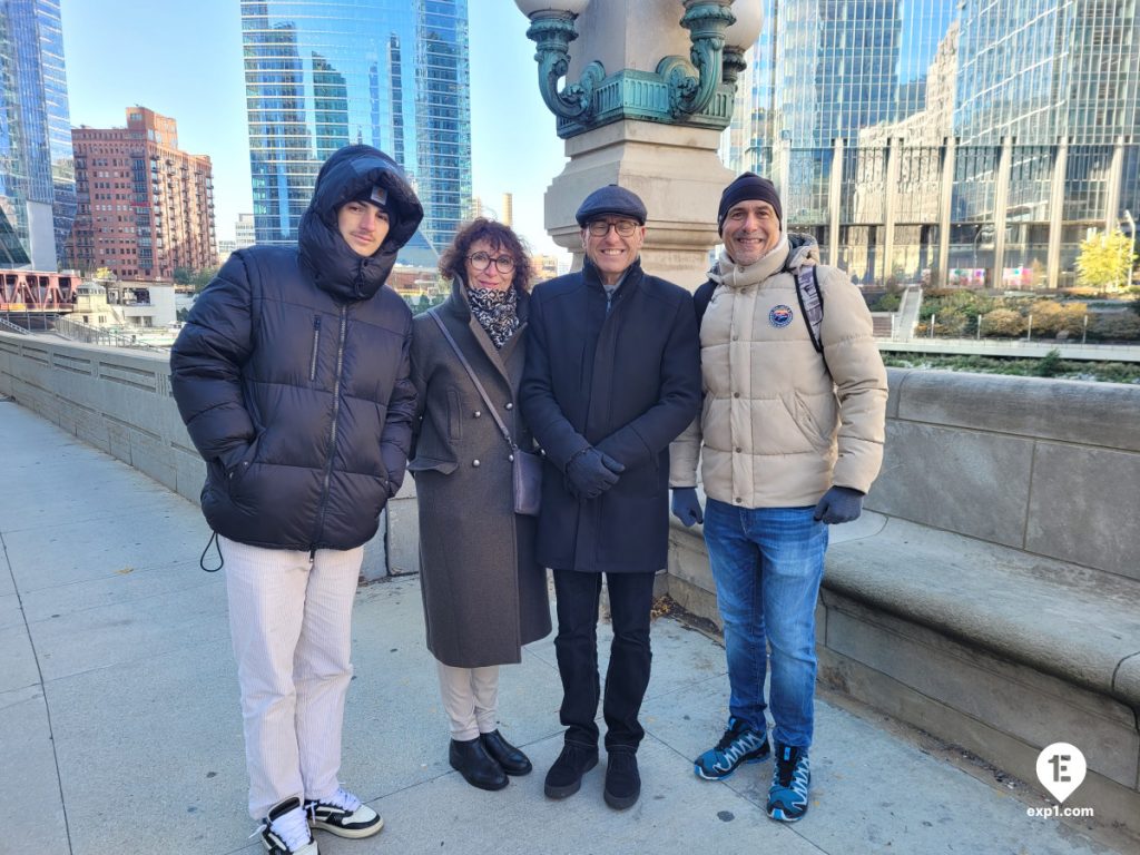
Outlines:
<svg viewBox="0 0 1140 855"><path fill-rule="evenodd" d="M762 2L727 163L853 280L1064 285L1090 229L1130 228L1140 0Z"/></svg>

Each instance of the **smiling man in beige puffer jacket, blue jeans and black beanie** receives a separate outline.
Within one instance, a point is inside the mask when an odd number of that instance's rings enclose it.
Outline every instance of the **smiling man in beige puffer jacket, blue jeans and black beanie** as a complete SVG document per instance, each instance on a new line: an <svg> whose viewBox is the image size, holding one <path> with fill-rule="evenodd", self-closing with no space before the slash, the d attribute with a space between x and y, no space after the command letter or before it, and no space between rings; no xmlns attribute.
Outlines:
<svg viewBox="0 0 1140 855"><path fill-rule="evenodd" d="M811 238L789 241L771 181L751 172L735 179L717 223L725 250L694 296L705 402L670 447L673 512L686 526L705 523L731 685L728 726L694 769L719 780L768 756L771 643L776 762L767 813L795 822L807 812L811 782L828 526L860 515L879 473L887 376L863 295L823 264L814 268L823 304L816 350L796 275L816 263L817 249Z"/></svg>

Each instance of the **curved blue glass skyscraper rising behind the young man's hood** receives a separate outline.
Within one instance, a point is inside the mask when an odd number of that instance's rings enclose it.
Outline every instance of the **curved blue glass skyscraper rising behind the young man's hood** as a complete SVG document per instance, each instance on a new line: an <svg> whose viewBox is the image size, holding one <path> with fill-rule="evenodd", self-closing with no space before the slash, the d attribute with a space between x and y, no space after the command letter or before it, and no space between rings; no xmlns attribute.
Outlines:
<svg viewBox="0 0 1140 855"><path fill-rule="evenodd" d="M425 218L401 253L433 263L471 199L466 0L242 0L258 243L296 241L342 146L390 154Z"/></svg>

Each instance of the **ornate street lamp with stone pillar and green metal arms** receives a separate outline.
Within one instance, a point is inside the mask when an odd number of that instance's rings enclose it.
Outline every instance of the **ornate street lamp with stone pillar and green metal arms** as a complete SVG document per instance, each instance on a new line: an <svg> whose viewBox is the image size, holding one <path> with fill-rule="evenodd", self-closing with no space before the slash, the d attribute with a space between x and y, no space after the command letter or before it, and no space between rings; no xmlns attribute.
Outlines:
<svg viewBox="0 0 1140 855"><path fill-rule="evenodd" d="M718 156L758 0L515 0L535 42L538 89L568 158L545 194L547 234L583 262L575 211L619 184L649 210L642 263L695 287L718 242ZM570 55L570 46L575 55ZM676 176L681 180L662 180Z"/></svg>

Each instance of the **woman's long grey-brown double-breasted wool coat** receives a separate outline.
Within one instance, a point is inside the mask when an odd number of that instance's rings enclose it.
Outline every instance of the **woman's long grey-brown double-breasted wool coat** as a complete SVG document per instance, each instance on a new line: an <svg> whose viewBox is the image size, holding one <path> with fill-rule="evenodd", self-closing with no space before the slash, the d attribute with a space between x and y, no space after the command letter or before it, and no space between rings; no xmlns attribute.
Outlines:
<svg viewBox="0 0 1140 855"><path fill-rule="evenodd" d="M523 323L502 350L471 315L458 280L437 309L522 448L532 445L518 401L528 302L520 291ZM551 632L535 518L514 513L510 448L426 314L413 321L412 380L420 418L408 471L418 496L427 649L457 668L521 661L522 645Z"/></svg>

